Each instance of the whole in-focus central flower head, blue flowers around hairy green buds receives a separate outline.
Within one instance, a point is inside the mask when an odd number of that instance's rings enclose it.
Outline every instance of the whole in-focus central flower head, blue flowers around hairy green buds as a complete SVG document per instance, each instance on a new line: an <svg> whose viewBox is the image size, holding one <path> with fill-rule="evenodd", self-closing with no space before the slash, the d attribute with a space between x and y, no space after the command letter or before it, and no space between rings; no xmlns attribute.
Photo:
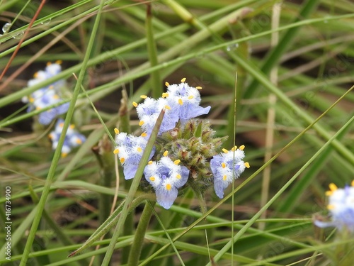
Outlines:
<svg viewBox="0 0 354 266"><path fill-rule="evenodd" d="M139 136L120 133L115 128L115 154L118 154L125 179L135 177L139 161L152 134L156 119L164 109L159 133L144 168L144 177L156 193L156 201L169 209L178 196L178 189L188 185L204 193L214 186L219 198L224 189L249 167L244 162L244 145L222 149L224 138L215 137L210 123L198 116L209 113L210 106L200 106L201 87L190 87L185 79L180 84L166 82L167 92L159 99L142 95L137 109Z"/></svg>

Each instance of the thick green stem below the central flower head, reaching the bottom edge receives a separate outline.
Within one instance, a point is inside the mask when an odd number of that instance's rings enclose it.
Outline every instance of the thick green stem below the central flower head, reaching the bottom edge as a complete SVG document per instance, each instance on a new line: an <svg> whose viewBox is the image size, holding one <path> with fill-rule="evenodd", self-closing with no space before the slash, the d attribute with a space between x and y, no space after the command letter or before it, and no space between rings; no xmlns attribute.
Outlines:
<svg viewBox="0 0 354 266"><path fill-rule="evenodd" d="M150 202L150 203L149 203ZM128 266L135 266L139 263L140 253L142 253L142 245L144 243L145 233L149 226L150 218L152 217L152 210L156 201L147 201L145 203L142 216L140 216L139 223L137 225L137 231L135 231L134 241L129 253Z"/></svg>

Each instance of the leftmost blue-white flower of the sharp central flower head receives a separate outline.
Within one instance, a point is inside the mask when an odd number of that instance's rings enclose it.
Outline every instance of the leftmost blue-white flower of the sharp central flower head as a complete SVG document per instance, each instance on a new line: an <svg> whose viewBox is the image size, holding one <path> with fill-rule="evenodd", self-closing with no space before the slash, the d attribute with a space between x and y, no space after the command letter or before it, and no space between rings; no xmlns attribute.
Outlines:
<svg viewBox="0 0 354 266"><path fill-rule="evenodd" d="M119 133L115 128L115 143L117 144L113 153L118 154L120 163L123 166L125 179L132 179L135 177L137 167L140 160L142 160L142 153L147 146L147 134L142 133L139 137L135 135L127 135L127 133ZM149 156L149 160L154 156L155 148Z"/></svg>

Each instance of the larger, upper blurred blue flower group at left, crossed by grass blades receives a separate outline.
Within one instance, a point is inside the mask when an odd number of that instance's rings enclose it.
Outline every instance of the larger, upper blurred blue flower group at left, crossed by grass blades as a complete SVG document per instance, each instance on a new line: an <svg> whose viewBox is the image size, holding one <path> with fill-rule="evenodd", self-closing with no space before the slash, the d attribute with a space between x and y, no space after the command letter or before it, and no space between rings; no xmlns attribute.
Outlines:
<svg viewBox="0 0 354 266"><path fill-rule="evenodd" d="M34 79L30 79L28 81L28 87L31 87L39 82L44 81L45 79L49 79L50 77L54 77L56 74L62 70L60 66L60 61L55 63L47 63L47 67L45 70L40 70L34 74ZM52 106L58 104L62 101L61 87L64 86L64 81L59 80L53 84L50 84L47 87L43 87L33 92L30 96L23 97L22 101L24 103L28 103L29 107L27 109L28 112L33 110L44 109L47 106ZM40 113L38 117L39 123L42 125L50 124L57 116L60 114L66 113L69 109L69 103L61 104L47 111L43 111Z"/></svg>

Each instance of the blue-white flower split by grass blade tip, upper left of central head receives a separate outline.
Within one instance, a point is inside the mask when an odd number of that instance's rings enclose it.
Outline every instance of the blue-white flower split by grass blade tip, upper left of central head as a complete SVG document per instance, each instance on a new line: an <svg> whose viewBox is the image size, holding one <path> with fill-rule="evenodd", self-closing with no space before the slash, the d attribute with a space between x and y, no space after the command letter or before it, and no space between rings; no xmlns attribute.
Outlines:
<svg viewBox="0 0 354 266"><path fill-rule="evenodd" d="M169 131L176 126L178 122L178 113L174 106L170 106L164 98L152 99L145 95L141 96L144 100L142 104L133 103L137 107L137 115L139 117L139 126L147 135L151 135L156 120L162 109L165 110L164 119L162 120L159 135L165 131Z"/></svg>

